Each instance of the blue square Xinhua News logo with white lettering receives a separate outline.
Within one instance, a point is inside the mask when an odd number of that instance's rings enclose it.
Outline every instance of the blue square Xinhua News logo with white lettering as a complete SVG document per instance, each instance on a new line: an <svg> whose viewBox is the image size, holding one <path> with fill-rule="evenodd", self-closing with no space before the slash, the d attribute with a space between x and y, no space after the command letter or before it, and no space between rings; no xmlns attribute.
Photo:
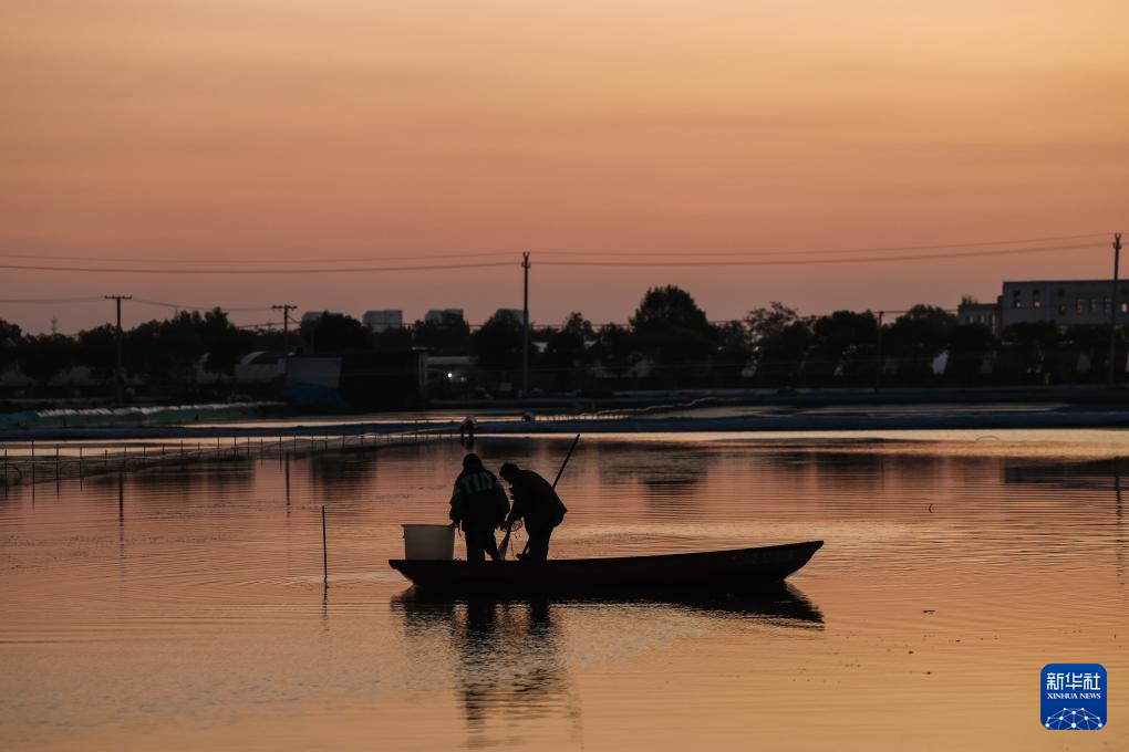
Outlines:
<svg viewBox="0 0 1129 752"><path fill-rule="evenodd" d="M1039 676L1040 723L1051 731L1097 731L1106 722L1106 679L1097 663L1048 663Z"/></svg>

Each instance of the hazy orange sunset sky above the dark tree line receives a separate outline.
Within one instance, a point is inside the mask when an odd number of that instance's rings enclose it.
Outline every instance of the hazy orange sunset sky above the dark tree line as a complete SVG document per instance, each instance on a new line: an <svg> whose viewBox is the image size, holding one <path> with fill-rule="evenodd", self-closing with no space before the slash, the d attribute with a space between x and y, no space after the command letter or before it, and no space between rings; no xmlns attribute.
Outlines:
<svg viewBox="0 0 1129 752"><path fill-rule="evenodd" d="M3 268L2 299L121 292L409 319L455 307L479 322L520 306L517 260L531 250L543 324L571 310L625 320L664 283L715 319L773 299L804 313L952 307L964 293L992 299L1005 277L1108 276L1112 238L910 263L543 263L569 258L550 251L802 259L1129 230L1124 0L5 0L0 56L8 267L513 262L320 275ZM0 303L0 318L32 331L56 316L73 333L111 312L105 301ZM128 303L125 324L167 313Z"/></svg>

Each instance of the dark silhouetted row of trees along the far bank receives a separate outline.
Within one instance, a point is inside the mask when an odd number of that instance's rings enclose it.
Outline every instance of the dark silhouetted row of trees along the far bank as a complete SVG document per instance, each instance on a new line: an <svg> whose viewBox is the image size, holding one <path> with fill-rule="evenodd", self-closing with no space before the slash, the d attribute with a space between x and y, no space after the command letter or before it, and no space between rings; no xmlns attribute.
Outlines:
<svg viewBox="0 0 1129 752"><path fill-rule="evenodd" d="M647 290L625 325L594 326L580 312L531 331L531 386L544 393L610 389L992 386L1097 381L1108 357L1108 326L1059 328L1017 324L997 337L979 324L919 304L879 329L873 311L800 316L780 302L741 320L714 322L686 291ZM1119 337L1119 362L1124 342ZM524 329L500 312L473 330L461 317L371 331L359 320L323 313L305 320L289 344L278 329L235 326L225 311L177 312L122 334L126 375L163 393L204 389L199 373L227 377L256 351L306 354L402 352L470 355L465 380L439 380L437 396L513 390L522 381ZM86 366L103 386L114 379L116 331L103 325L75 336L27 335L0 320L0 371L18 368L46 391L59 373ZM945 354L944 362L938 356ZM881 371L881 375L879 375ZM219 379L222 381L222 379ZM211 387L215 389L215 387Z"/></svg>

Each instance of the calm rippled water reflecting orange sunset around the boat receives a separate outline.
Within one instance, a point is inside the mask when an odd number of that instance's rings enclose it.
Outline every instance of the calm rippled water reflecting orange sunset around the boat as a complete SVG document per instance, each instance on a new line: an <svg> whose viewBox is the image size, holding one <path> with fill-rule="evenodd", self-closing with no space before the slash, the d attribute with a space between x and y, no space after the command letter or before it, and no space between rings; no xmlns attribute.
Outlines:
<svg viewBox="0 0 1129 752"><path fill-rule="evenodd" d="M461 454L295 460L289 501L277 460L9 489L0 746L1129 749L1129 434L581 441L555 556L825 541L755 601L415 598L386 560ZM1106 728L1039 725L1051 662L1104 664Z"/></svg>

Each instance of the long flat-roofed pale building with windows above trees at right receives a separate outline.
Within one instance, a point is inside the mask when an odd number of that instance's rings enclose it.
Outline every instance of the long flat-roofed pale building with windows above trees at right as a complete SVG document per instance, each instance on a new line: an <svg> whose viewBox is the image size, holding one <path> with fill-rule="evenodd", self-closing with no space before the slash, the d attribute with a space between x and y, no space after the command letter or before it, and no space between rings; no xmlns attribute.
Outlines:
<svg viewBox="0 0 1129 752"><path fill-rule="evenodd" d="M1052 321L1060 327L1109 324L1112 280L1034 280L1005 282L995 303L961 303L961 324L983 324L999 335L1013 324ZM1129 283L1119 284L1118 325L1129 324Z"/></svg>

